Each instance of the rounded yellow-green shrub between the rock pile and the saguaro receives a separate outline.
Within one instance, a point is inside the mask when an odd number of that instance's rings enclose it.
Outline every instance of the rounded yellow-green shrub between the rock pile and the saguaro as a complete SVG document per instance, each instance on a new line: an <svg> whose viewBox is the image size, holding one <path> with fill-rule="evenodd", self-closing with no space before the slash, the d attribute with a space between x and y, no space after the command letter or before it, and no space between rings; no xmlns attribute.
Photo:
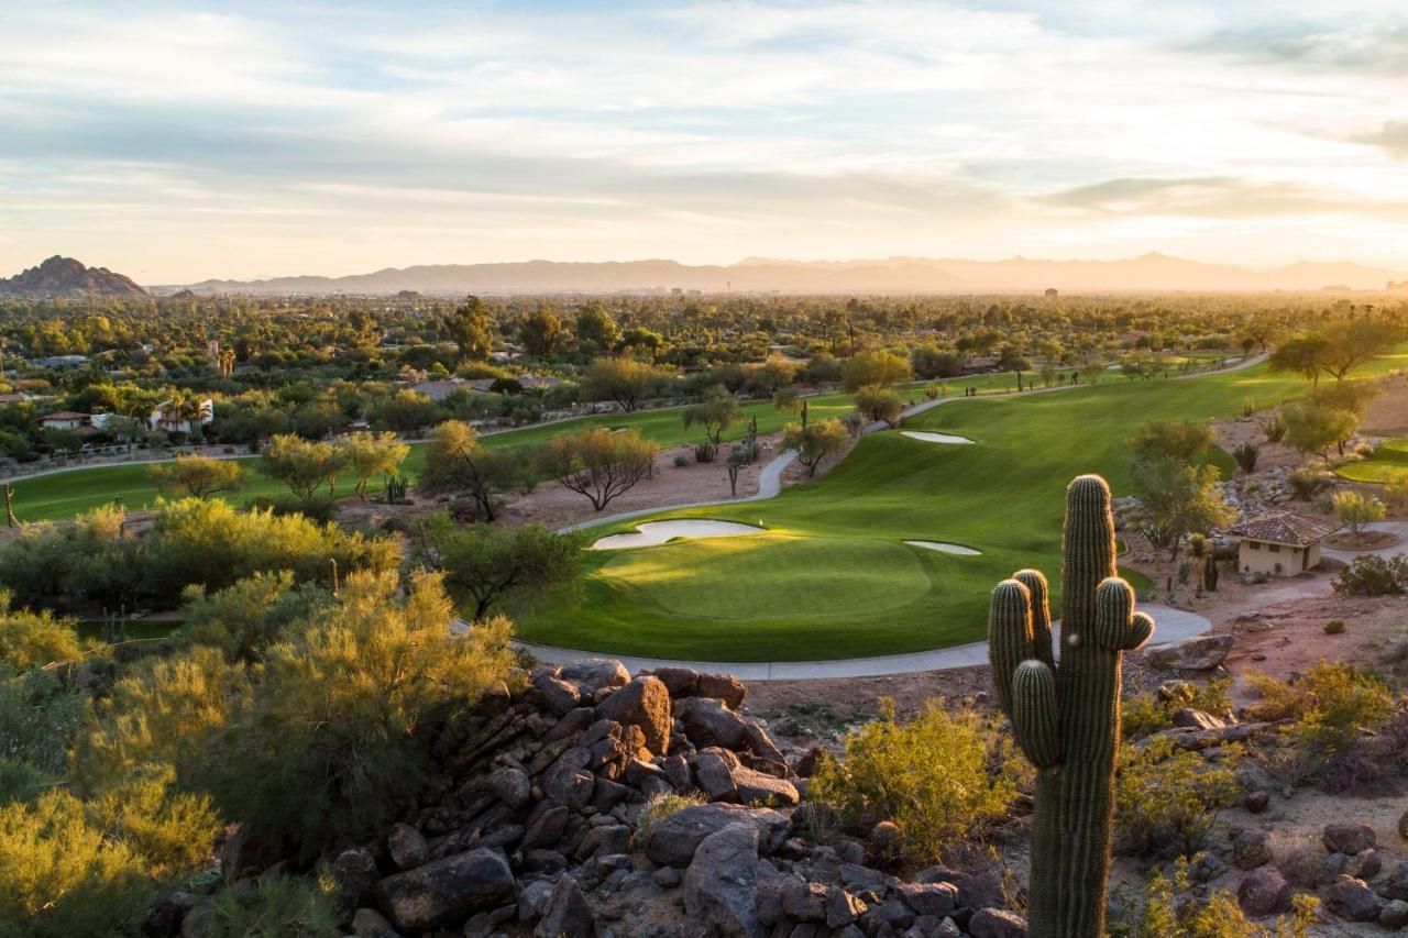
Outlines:
<svg viewBox="0 0 1408 938"><path fill-rule="evenodd" d="M845 756L826 759L810 792L846 824L894 821L900 852L924 863L1000 820L1018 770L1008 741L976 711L931 707L901 727L887 703L884 720L850 734Z"/></svg>

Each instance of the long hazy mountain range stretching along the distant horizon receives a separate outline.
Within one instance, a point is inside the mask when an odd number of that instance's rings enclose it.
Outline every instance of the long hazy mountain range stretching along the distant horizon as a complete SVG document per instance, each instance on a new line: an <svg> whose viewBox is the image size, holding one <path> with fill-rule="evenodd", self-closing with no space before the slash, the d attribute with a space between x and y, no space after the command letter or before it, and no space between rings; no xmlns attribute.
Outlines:
<svg viewBox="0 0 1408 938"><path fill-rule="evenodd" d="M1300 262L1271 270L1204 263L1163 254L1126 261L967 261L886 258L876 261L779 261L748 258L728 266L676 261L448 263L387 268L345 277L294 276L272 280L204 280L200 294L425 294L615 293L642 290L781 293L987 293L1055 287L1100 290L1383 290L1405 273L1360 263ZM176 290L158 287L159 292Z"/></svg>

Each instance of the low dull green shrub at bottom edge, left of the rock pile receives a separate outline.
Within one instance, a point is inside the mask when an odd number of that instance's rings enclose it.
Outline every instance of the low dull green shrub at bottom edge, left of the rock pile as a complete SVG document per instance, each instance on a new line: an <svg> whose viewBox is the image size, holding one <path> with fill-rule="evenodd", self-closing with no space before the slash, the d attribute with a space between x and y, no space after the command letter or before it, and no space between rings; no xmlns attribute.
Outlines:
<svg viewBox="0 0 1408 938"><path fill-rule="evenodd" d="M215 893L200 913L207 938L324 938L338 930L337 903L328 883L307 876L259 877L252 889L231 886Z"/></svg>

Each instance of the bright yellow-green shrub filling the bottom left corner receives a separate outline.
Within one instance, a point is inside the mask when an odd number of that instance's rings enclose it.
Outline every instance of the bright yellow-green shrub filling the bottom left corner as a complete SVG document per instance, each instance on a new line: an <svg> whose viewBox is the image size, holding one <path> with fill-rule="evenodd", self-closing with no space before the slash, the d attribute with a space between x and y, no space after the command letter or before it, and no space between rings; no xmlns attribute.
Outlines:
<svg viewBox="0 0 1408 938"><path fill-rule="evenodd" d="M121 932L152 892L141 858L68 792L0 804L0 937Z"/></svg>

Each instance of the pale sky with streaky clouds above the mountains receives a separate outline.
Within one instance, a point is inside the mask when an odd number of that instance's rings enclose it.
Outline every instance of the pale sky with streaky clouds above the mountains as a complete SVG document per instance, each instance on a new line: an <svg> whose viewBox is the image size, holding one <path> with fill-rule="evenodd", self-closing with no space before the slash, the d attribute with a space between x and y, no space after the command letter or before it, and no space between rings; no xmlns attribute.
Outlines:
<svg viewBox="0 0 1408 938"><path fill-rule="evenodd" d="M1070 13L1079 7L1080 13ZM0 275L1408 268L1408 4L0 3Z"/></svg>

